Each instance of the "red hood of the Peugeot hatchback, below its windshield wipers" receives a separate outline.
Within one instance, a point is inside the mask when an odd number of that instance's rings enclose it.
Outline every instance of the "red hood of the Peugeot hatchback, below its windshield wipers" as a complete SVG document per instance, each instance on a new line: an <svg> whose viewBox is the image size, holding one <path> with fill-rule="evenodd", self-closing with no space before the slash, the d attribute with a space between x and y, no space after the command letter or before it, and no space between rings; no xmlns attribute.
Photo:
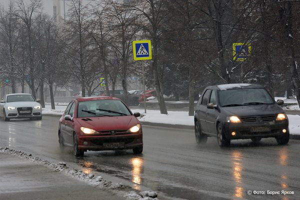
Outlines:
<svg viewBox="0 0 300 200"><path fill-rule="evenodd" d="M128 130L139 123L134 115L79 117L77 118L77 121L81 126L91 128L96 131Z"/></svg>

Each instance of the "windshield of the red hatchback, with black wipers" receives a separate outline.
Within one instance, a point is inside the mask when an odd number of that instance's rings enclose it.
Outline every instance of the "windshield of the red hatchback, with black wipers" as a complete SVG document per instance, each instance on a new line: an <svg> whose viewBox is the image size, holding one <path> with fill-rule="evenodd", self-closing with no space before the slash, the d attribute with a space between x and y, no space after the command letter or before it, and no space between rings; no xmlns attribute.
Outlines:
<svg viewBox="0 0 300 200"><path fill-rule="evenodd" d="M120 100L89 100L78 104L77 117L131 115Z"/></svg>

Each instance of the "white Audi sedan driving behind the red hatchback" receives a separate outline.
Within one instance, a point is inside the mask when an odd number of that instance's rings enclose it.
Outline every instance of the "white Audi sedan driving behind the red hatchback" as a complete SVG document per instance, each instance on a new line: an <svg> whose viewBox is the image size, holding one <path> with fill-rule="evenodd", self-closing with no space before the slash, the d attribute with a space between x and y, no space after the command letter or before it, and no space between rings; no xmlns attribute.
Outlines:
<svg viewBox="0 0 300 200"><path fill-rule="evenodd" d="M11 118L41 120L41 106L31 94L7 94L0 100L0 116L5 121Z"/></svg>

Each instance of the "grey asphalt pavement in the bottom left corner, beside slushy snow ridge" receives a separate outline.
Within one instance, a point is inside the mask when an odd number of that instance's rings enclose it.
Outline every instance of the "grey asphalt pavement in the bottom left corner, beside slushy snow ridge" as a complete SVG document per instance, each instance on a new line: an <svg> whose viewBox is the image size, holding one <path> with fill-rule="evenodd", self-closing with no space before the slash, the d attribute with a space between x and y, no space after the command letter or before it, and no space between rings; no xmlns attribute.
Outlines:
<svg viewBox="0 0 300 200"><path fill-rule="evenodd" d="M0 152L0 160L1 200L122 199L16 155Z"/></svg>

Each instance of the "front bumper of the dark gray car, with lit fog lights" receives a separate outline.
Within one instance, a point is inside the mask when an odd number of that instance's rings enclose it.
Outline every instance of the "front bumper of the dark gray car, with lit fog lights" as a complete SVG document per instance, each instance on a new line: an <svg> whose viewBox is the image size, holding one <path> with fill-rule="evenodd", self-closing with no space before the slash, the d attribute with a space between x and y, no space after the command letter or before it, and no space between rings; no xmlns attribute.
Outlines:
<svg viewBox="0 0 300 200"><path fill-rule="evenodd" d="M277 137L288 134L288 121L270 121L266 123L227 123L222 122L225 136L228 139L249 139L253 137ZM261 130L259 130L261 129ZM264 130L263 130L264 129ZM268 130L265 130L268 129ZM282 129L286 129L283 133ZM236 134L233 136L231 132Z"/></svg>

